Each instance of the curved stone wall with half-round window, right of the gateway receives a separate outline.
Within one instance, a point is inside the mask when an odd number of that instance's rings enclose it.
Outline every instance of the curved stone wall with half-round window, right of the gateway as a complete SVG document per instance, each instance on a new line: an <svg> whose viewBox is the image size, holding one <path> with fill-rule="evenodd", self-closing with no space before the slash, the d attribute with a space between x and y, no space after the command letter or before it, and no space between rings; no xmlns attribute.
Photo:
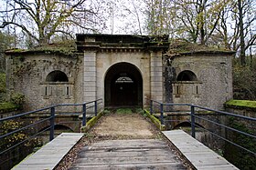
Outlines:
<svg viewBox="0 0 256 170"><path fill-rule="evenodd" d="M174 103L223 109L223 104L232 98L232 55L208 52L179 55L173 59L172 66L176 70ZM189 77L178 80L184 71L192 72L196 77L190 75L191 80Z"/></svg>

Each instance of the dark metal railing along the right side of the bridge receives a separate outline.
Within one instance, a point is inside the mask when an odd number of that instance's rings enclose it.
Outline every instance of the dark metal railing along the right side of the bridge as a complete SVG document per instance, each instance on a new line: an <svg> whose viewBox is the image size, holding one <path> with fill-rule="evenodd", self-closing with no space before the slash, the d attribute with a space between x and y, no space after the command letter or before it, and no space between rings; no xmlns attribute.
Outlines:
<svg viewBox="0 0 256 170"><path fill-rule="evenodd" d="M232 117L236 117L236 118L240 118L240 119L247 120L247 121L252 121L252 122L256 121L255 117L249 117L249 116L245 116L245 115L236 115L236 114L233 114L233 113L214 110L214 109L199 106L199 105L162 103L162 102L158 102L158 101L155 101L155 100L150 100L150 113L151 113L151 115L153 115L155 110L157 110L158 113L160 112L160 114L161 114L160 115L160 122L161 122L162 125L164 125L165 122L168 122L168 121L171 121L171 122L177 121L177 120L165 120L165 117L164 117L164 114L165 114L165 111L166 111L165 106L187 106L188 108L190 107L190 110L187 111L187 115L190 116L189 123L191 124L191 135L193 137L196 137L196 126L199 127L198 125L196 125L196 121L195 121L196 118L197 118L198 120L201 119L201 120L207 121L208 123L213 124L213 125L219 125L221 128L225 128L225 129L228 129L232 132L239 133L240 135L246 135L246 136L249 136L253 139L256 138L256 135L249 134L249 133L243 132L241 130L235 129L233 127L230 127L228 125L224 125L224 124L215 122L213 120L209 120L208 118L201 117L200 114L198 114L198 111L196 111L196 109L199 109L199 111L211 111L211 112L216 113L217 115L229 115L229 116L232 116ZM167 113L169 113L169 112L170 111L167 111ZM175 112L175 110L172 108L171 112ZM178 116L178 114L176 116ZM199 128L202 128L202 127L199 127ZM231 145L236 145L236 146L240 147L241 149L251 153L252 155L256 155L255 152L245 148L244 146L236 144L236 143L230 141L229 139L227 139L226 137L220 136L220 135L216 134L215 132L212 132L209 129L206 129L206 128L204 128L204 129L207 130L210 134L219 137L220 139L230 143Z"/></svg>

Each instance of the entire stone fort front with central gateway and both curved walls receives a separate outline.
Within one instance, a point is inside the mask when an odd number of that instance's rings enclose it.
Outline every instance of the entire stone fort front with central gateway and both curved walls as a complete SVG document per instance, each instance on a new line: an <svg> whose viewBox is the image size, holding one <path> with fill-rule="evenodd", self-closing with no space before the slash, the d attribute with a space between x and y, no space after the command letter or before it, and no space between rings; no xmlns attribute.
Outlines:
<svg viewBox="0 0 256 170"><path fill-rule="evenodd" d="M25 95L27 111L99 98L104 106L143 107L153 99L221 109L232 98L233 52L170 45L166 35L79 34L67 51L53 46L5 55L7 92Z"/></svg>

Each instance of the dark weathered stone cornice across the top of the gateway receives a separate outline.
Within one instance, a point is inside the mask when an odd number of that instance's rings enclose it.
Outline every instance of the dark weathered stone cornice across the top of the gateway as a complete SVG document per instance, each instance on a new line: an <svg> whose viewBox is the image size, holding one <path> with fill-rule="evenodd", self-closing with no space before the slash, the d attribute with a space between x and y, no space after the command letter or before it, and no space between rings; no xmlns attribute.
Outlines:
<svg viewBox="0 0 256 170"><path fill-rule="evenodd" d="M167 51L168 36L77 35L78 51L141 52Z"/></svg>

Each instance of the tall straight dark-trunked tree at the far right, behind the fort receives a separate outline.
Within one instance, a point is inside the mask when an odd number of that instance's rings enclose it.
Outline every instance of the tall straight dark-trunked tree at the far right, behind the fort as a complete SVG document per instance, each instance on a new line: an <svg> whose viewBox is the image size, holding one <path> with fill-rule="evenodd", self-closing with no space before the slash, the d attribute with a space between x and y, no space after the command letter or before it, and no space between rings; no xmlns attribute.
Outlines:
<svg viewBox="0 0 256 170"><path fill-rule="evenodd" d="M238 51L240 65L246 65L246 51L256 44L256 4L252 0L232 0L222 11L218 32L225 47ZM220 40L221 41L221 40Z"/></svg>

